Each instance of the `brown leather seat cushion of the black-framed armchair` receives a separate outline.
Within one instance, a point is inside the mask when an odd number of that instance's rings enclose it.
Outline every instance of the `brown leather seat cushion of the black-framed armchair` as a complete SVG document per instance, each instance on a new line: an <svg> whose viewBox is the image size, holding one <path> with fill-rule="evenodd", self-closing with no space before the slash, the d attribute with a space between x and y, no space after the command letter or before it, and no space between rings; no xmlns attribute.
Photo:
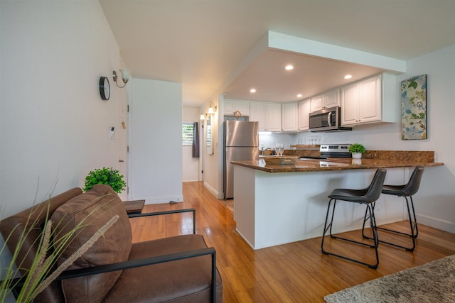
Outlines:
<svg viewBox="0 0 455 303"><path fill-rule="evenodd" d="M133 243L129 260L206 248L202 235L181 235ZM124 270L103 303L191 303L211 300L210 255ZM144 277L147 277L144 282ZM223 302L223 284L216 272L216 302Z"/></svg>

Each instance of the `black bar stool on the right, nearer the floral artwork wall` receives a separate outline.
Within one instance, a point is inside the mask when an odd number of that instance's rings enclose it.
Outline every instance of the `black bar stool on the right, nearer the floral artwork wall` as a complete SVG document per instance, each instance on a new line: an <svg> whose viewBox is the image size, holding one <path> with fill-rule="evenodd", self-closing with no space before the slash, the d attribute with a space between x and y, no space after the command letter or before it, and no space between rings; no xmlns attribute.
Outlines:
<svg viewBox="0 0 455 303"><path fill-rule="evenodd" d="M396 246L399 248L404 248L407 251L414 251L415 249L415 239L419 235L419 230L417 229L417 219L415 216L415 211L414 211L414 202L412 201L412 196L417 193L420 187L420 180L422 180L422 175L424 173L424 167L422 166L417 166L414 168L414 171L412 172L412 175L410 177L410 180L407 182L407 184L403 185L386 185L382 187L382 194L391 194L392 196L397 196L397 197L404 197L406 200L406 206L407 206L407 216L410 221L410 228L411 228L411 233L402 233L400 231L394 231L392 229L388 228L383 228L379 227L378 229L383 230L383 231L389 231L392 233L397 233L402 236L410 236L412 238L412 247L406 247L406 246L401 246L396 243L391 243L387 241L382 241L382 243L387 243L391 246ZM410 199L407 199L407 198ZM373 210L374 210L374 205L373 205ZM363 227L365 228L365 222L368 220L368 212L365 211L365 219L363 221ZM365 233L363 233L363 228L362 228L362 234L364 238L369 238L368 236L365 236Z"/></svg>

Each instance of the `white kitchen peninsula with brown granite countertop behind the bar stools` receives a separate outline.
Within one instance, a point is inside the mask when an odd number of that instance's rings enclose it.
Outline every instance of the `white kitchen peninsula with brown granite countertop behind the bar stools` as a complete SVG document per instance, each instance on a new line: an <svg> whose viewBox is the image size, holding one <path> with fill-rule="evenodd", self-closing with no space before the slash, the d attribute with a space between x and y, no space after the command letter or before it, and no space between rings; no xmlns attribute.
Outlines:
<svg viewBox="0 0 455 303"><path fill-rule="evenodd" d="M322 236L328 194L339 187L367 187L378 167L387 168L386 184L405 184L414 166L443 165L434 162L431 151L368 151L360 161L296 160L294 165L269 165L264 159L232 163L236 229L254 249ZM375 209L378 225L404 220L402 201L381 195ZM361 228L363 207L338 207L345 216L336 221L335 233Z"/></svg>

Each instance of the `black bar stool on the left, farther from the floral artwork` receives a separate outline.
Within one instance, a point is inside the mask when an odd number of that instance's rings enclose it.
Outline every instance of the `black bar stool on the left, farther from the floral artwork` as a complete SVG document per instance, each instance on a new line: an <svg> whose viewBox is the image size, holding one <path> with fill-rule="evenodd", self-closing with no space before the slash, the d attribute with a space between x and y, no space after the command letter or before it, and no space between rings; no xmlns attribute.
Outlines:
<svg viewBox="0 0 455 303"><path fill-rule="evenodd" d="M378 265L379 265L379 256L378 256L379 239L378 239L378 231L377 231L376 220L375 220L374 204L375 204L376 200L378 200L378 198L380 197L382 185L384 184L384 180L385 180L386 172L387 172L387 170L385 170L385 168L380 168L380 169L376 170L373 180L371 181L370 185L365 189L337 188L337 189L333 189L331 194L328 195L330 200L328 201L326 223L324 224L324 231L323 231L322 242L321 242L321 250L322 250L323 254L335 255L338 258L343 258L345 260L350 260L355 263L367 265L369 268L373 268L373 269L378 268ZM336 206L336 202L338 200L343 200L346 202L352 202L352 203L358 203L358 204L365 204L366 211L369 214L368 219L370 219L371 231L373 233L373 244L364 243L364 242L360 242L360 241L354 241L354 240L351 240L348 238L341 238L339 236L333 235L333 233L332 233L333 217L335 216L335 206ZM332 207L332 211L330 211L332 202L333 202L333 207ZM331 218L329 220L328 216L330 213L331 213ZM328 222L330 222L330 223L328 223ZM363 224L365 225L365 220L364 220ZM324 249L324 238L326 236L327 231L329 231L331 238L340 239L340 240L348 241L351 243L357 243L357 244L360 244L361 246L369 246L370 248L374 248L375 254L376 254L376 263L374 263L374 264L365 263L361 260L348 258L345 255L339 255L337 253L328 252L327 250Z"/></svg>

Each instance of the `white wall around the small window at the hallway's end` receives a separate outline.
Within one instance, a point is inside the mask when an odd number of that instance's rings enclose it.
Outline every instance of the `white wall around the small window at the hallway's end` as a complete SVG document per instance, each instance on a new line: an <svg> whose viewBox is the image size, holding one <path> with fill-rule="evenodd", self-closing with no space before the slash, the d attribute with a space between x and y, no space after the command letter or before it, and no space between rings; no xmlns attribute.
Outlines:
<svg viewBox="0 0 455 303"><path fill-rule="evenodd" d="M183 107L182 122L193 123L198 122L199 135L202 136L200 131L199 120L200 109L198 107ZM202 157L202 149L200 150L199 157ZM199 180L199 162L201 158L193 158L193 146L182 146L182 161L183 161L183 182L198 181Z"/></svg>

